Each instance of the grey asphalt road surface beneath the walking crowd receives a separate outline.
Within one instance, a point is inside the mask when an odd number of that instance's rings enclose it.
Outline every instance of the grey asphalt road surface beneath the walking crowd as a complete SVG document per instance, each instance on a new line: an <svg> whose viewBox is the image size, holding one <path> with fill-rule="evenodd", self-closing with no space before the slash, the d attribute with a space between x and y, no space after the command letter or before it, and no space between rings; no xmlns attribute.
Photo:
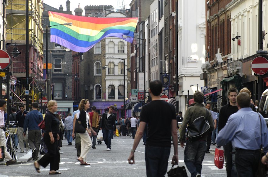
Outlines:
<svg viewBox="0 0 268 177"><path fill-rule="evenodd" d="M145 167L145 145L141 140L135 152L135 164L127 163L130 150L132 148L133 140L127 136L114 137L112 139L111 151L106 151L104 142L96 145L96 149L91 149L87 156L87 162L91 165L81 166L80 162L76 160L76 149L73 145L67 145L67 140L63 140L63 147L60 150L60 169L62 172L60 177L73 176L101 176L101 177L119 177L119 176L146 176ZM184 165L183 155L184 149L178 146L179 150L179 165ZM173 147L170 152L170 162L168 170L171 168L171 159L173 155ZM218 169L214 165L214 154L206 154L203 161L203 168L201 176L203 177L226 177L225 167ZM49 165L46 168L40 168L41 173L37 173L33 166L33 160L29 160L25 164L0 166L0 174L11 177L27 177L27 176L48 176ZM187 171L188 176L191 176ZM50 176L50 175L49 175ZM166 175L167 176L167 175ZM1 177L1 175L0 175Z"/></svg>

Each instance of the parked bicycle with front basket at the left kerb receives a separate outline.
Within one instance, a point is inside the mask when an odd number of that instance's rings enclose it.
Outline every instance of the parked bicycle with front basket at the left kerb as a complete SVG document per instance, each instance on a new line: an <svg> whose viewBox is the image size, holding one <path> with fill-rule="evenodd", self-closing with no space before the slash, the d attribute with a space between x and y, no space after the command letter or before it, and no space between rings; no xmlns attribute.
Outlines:
<svg viewBox="0 0 268 177"><path fill-rule="evenodd" d="M10 122L8 125L5 125L6 131L5 131L5 143L7 146L7 150L9 154L11 155L12 158L17 160L17 152L16 152L16 147L15 147L15 140L14 140L14 134L17 133L17 128L13 128L14 125L16 125L18 122ZM6 122L5 122L6 124Z"/></svg>

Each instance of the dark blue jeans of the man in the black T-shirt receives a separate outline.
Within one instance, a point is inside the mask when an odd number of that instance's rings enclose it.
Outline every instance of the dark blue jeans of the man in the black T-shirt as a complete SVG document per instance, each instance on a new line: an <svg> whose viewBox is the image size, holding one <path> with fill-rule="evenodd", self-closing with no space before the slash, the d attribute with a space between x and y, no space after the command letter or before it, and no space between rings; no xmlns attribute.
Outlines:
<svg viewBox="0 0 268 177"><path fill-rule="evenodd" d="M147 177L163 177L167 172L170 147L145 146Z"/></svg>

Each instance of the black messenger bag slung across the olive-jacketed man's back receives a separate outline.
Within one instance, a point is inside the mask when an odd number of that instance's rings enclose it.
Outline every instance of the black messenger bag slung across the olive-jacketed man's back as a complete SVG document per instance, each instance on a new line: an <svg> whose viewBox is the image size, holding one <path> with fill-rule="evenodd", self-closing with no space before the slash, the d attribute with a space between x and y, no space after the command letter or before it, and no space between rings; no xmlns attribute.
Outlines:
<svg viewBox="0 0 268 177"><path fill-rule="evenodd" d="M206 111L206 118L204 118L204 116L198 117L191 125L187 127L188 138L190 142L201 139L209 130L210 125L208 123L208 110L206 109Z"/></svg>

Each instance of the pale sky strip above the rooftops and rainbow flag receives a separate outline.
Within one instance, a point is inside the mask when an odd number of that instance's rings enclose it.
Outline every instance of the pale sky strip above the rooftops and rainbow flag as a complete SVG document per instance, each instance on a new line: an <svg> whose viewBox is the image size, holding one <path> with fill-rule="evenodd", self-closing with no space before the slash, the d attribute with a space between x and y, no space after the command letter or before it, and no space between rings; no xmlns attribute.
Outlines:
<svg viewBox="0 0 268 177"><path fill-rule="evenodd" d="M60 5L63 6L63 9L66 10L66 1L67 0L43 0L43 3L46 3L54 8L59 9ZM78 7L80 3L80 8L83 9L83 15L85 15L84 7L86 5L112 5L115 9L117 8L118 0L69 0L71 5L71 11L74 15L74 9ZM129 8L131 0L119 0L119 7L122 8L122 2L125 5L125 8Z"/></svg>

